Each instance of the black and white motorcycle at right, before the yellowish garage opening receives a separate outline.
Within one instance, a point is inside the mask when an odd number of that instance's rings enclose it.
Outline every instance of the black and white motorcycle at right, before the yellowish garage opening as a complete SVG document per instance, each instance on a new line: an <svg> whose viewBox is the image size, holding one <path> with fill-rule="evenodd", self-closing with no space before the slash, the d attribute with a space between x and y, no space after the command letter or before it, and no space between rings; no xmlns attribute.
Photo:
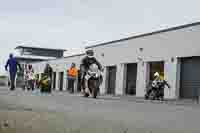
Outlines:
<svg viewBox="0 0 200 133"><path fill-rule="evenodd" d="M163 101L165 85L170 88L169 84L165 80L151 82L145 94L145 99Z"/></svg>

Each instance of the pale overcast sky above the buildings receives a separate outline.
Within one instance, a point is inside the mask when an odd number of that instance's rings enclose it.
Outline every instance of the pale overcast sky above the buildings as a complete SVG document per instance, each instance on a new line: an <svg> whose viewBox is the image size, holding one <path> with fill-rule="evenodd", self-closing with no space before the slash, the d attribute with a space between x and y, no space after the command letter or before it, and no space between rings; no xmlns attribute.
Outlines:
<svg viewBox="0 0 200 133"><path fill-rule="evenodd" d="M19 44L83 47L200 20L199 0L0 0L0 72Z"/></svg>

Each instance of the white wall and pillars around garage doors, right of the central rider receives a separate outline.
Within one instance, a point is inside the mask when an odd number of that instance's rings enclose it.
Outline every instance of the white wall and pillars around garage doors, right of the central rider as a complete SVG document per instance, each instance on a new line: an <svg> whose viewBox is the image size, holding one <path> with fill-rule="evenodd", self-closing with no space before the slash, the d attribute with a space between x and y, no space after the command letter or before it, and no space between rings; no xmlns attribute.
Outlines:
<svg viewBox="0 0 200 133"><path fill-rule="evenodd" d="M148 62L164 61L165 78L171 85L171 89L165 89L165 98L174 99L179 97L180 89L180 63L177 58L200 56L199 34L200 26L198 25L119 41L92 49L104 66L118 66L116 93L121 95L124 94L122 81L124 68L121 64L138 63L136 96L143 97L148 80ZM140 51L140 48L143 51Z"/></svg>

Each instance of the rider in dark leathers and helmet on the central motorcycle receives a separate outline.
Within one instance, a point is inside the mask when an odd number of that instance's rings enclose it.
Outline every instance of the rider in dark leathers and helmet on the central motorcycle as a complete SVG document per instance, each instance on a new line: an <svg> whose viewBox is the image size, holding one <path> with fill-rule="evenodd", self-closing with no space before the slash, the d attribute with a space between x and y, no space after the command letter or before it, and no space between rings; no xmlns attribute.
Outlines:
<svg viewBox="0 0 200 133"><path fill-rule="evenodd" d="M82 71L82 80L84 81L84 86L85 86L85 92L90 93L89 88L88 88L88 80L90 79L90 75L88 74L88 70L91 64L96 64L99 68L99 70L102 71L102 65L97 61L97 59L94 57L94 52L93 50L88 50L86 51L86 57L84 57L81 61L81 71ZM83 87L82 87L82 92L84 92Z"/></svg>

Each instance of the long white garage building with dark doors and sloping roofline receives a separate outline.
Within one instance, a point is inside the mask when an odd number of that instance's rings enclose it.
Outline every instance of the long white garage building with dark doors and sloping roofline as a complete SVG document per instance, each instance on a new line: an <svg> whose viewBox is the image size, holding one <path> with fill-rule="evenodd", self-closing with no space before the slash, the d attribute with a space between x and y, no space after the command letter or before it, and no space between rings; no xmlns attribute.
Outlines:
<svg viewBox="0 0 200 133"><path fill-rule="evenodd" d="M199 35L197 22L86 47L106 67L100 93L143 97L152 73L159 71L171 85L165 98L191 98L193 89L200 88ZM71 62L79 64L82 56L50 64L59 73ZM35 67L43 70L41 63Z"/></svg>

